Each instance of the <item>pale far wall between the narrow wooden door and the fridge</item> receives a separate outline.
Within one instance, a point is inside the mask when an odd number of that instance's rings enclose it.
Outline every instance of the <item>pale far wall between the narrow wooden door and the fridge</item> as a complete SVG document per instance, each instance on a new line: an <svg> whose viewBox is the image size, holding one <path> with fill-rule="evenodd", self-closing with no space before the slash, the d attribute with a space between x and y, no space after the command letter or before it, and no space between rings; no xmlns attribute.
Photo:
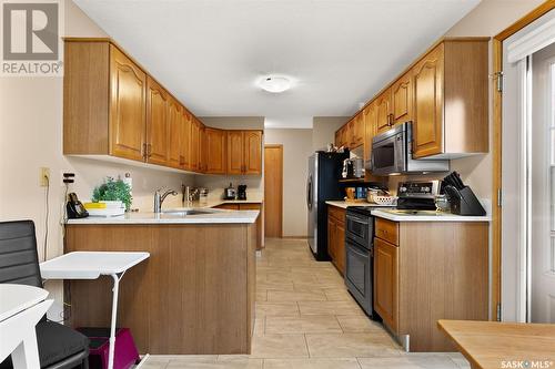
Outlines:
<svg viewBox="0 0 555 369"><path fill-rule="evenodd" d="M283 236L305 237L309 216L305 183L313 152L312 130L266 130L265 143L283 145Z"/></svg>

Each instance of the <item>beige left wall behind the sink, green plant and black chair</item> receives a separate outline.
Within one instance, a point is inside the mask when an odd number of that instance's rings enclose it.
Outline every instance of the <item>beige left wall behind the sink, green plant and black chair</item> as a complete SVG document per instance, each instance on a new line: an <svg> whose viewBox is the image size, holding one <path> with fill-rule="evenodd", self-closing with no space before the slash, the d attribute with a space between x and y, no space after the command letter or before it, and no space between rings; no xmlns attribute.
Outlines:
<svg viewBox="0 0 555 369"><path fill-rule="evenodd" d="M72 1L65 1L65 35L105 37ZM62 254L60 219L64 187L61 172L72 171L77 183L71 191L81 198L90 197L93 186L105 175L130 172L134 182L134 207L150 209L152 193L161 185L179 189L192 177L127 165L102 163L62 155L62 78L0 78L0 221L32 219L37 227L39 257L46 232L46 192L39 187L39 167L51 172L50 217L48 222L48 258ZM176 202L176 203L175 203ZM180 204L169 198L168 206ZM56 298L53 319L61 309L60 283L49 281L47 288ZM52 314L52 312L51 312Z"/></svg>

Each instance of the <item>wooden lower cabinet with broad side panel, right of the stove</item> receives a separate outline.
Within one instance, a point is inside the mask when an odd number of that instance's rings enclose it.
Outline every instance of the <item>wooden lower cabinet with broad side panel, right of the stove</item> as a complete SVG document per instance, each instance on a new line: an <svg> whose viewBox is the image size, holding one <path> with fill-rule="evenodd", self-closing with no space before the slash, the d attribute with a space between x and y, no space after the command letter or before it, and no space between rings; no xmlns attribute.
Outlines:
<svg viewBox="0 0 555 369"><path fill-rule="evenodd" d="M411 351L454 350L438 319L488 318L488 223L379 219L374 309Z"/></svg>

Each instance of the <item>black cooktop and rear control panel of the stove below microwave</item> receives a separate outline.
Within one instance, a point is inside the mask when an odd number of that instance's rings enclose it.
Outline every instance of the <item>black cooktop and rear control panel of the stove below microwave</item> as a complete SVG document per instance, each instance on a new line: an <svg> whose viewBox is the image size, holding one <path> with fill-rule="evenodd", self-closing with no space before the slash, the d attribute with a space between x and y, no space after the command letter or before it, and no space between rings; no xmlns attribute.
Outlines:
<svg viewBox="0 0 555 369"><path fill-rule="evenodd" d="M435 211L435 197L438 194L438 180L401 182L397 188L397 208Z"/></svg>

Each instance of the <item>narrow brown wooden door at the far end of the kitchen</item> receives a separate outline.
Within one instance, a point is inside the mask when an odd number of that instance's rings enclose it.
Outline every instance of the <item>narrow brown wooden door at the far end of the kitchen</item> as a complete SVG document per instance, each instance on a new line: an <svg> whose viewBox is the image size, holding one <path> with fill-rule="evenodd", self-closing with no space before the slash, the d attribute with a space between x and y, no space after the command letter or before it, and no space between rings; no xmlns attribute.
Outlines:
<svg viewBox="0 0 555 369"><path fill-rule="evenodd" d="M283 146L264 146L264 234L283 236Z"/></svg>

